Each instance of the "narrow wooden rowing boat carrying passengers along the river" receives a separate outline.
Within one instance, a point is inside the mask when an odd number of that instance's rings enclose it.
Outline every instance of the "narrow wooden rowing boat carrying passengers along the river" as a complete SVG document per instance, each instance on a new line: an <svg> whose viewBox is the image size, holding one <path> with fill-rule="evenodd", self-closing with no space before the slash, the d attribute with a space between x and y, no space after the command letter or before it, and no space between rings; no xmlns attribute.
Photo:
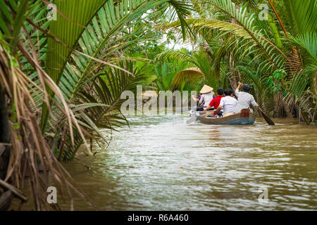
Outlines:
<svg viewBox="0 0 317 225"><path fill-rule="evenodd" d="M198 113L198 112L197 112ZM229 115L227 117L212 117L213 111L204 113L200 112L197 115L196 120L203 124L231 124L231 125L249 125L254 124L256 116L254 113L249 112L249 109L241 110L241 113L236 113L234 115Z"/></svg>

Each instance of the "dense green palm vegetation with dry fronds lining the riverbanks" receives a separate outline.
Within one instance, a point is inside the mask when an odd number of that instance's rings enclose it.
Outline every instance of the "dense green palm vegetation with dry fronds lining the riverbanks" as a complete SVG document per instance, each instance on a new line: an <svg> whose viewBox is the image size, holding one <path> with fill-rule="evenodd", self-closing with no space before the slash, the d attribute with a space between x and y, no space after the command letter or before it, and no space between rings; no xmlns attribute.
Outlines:
<svg viewBox="0 0 317 225"><path fill-rule="evenodd" d="M316 7L314 0L1 1L0 194L8 196L1 208L13 196L25 200L24 182L36 210L46 209L49 184L86 199L60 161L73 160L80 146L94 155L89 142L108 141L99 129L127 125L120 95L137 84L182 91L249 83L266 113L313 123ZM192 48L170 47L182 43Z"/></svg>

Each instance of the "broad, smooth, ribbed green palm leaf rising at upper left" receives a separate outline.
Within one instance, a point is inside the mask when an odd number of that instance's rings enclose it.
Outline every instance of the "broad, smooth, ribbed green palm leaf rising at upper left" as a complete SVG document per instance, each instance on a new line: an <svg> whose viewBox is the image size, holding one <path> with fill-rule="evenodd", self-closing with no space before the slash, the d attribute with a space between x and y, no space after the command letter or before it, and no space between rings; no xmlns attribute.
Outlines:
<svg viewBox="0 0 317 225"><path fill-rule="evenodd" d="M49 39L46 54L46 72L58 84L66 60L75 44L77 44L85 27L107 0L70 0L57 1L56 8L66 15L58 13L56 21L51 21L49 32L54 34L63 44L54 39ZM72 7L69 7L72 6ZM69 32L72 31L72 32Z"/></svg>

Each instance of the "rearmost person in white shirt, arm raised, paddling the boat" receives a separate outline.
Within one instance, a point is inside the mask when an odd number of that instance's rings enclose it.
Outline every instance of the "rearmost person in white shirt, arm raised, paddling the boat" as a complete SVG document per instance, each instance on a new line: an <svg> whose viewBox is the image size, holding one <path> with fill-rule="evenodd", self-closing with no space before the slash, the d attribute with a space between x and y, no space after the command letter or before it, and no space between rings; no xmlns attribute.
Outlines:
<svg viewBox="0 0 317 225"><path fill-rule="evenodd" d="M239 91L241 87L243 91ZM237 89L235 90L235 96L237 96L235 113L240 113L244 108L249 108L249 110L251 110L250 105L253 105L254 108L259 107L259 104L254 100L254 96L249 94L250 89L249 84L242 84L241 82L238 84Z"/></svg>

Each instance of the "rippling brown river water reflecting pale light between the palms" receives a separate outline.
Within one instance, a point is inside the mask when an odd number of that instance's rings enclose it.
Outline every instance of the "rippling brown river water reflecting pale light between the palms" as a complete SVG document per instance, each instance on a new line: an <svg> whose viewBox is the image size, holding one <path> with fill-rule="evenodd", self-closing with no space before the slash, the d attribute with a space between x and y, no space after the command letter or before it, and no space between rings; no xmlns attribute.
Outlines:
<svg viewBox="0 0 317 225"><path fill-rule="evenodd" d="M317 210L316 126L187 119L129 117L130 129L113 132L108 148L65 166L99 210ZM74 203L93 210L79 197Z"/></svg>

